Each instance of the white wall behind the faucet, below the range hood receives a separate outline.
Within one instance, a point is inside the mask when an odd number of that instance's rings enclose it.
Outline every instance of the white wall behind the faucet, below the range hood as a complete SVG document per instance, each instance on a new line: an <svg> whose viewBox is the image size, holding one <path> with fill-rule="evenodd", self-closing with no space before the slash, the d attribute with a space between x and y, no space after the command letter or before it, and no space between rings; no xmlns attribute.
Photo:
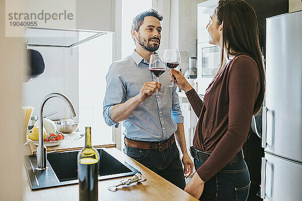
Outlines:
<svg viewBox="0 0 302 201"><path fill-rule="evenodd" d="M51 92L60 92L72 102L79 114L79 50L78 48L32 48L39 51L44 59L45 70L36 78L23 84L23 104L35 108L33 116L38 116L41 100ZM44 115L60 109L50 118L69 118L70 110L59 98L51 98L44 106ZM79 120L75 117L74 120Z"/></svg>

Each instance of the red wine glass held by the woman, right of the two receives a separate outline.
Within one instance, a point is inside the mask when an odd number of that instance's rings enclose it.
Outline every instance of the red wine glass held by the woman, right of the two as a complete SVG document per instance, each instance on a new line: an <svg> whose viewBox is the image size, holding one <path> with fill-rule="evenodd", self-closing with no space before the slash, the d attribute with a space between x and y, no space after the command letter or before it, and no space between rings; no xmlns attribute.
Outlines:
<svg viewBox="0 0 302 201"><path fill-rule="evenodd" d="M166 66L170 69L172 68L176 68L181 62L180 59L180 53L178 49L167 49L165 50L165 54L164 54L164 63L166 64ZM170 87L172 86L177 86L174 83L174 79L172 81L172 84L169 85Z"/></svg>

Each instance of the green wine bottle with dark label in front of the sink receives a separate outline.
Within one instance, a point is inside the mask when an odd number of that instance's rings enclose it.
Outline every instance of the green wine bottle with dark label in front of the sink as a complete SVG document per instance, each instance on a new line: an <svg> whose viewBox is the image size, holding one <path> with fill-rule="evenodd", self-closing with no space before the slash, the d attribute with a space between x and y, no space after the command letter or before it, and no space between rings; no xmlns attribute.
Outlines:
<svg viewBox="0 0 302 201"><path fill-rule="evenodd" d="M91 127L85 127L85 147L78 154L79 200L98 200L100 156L91 147Z"/></svg>

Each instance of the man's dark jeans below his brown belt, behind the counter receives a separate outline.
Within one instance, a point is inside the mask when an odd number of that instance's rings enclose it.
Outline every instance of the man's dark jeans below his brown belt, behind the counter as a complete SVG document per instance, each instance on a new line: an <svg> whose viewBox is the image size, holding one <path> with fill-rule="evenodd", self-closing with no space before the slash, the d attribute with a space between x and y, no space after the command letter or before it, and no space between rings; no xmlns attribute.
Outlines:
<svg viewBox="0 0 302 201"><path fill-rule="evenodd" d="M138 149L125 145L124 153L181 189L185 188L184 170L175 142L164 151Z"/></svg>

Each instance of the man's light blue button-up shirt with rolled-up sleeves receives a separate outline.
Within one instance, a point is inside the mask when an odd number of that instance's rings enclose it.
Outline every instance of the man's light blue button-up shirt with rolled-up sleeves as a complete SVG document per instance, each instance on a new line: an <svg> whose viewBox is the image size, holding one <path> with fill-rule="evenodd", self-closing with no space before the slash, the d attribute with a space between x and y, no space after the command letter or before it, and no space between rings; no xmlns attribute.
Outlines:
<svg viewBox="0 0 302 201"><path fill-rule="evenodd" d="M106 94L103 103L103 117L107 125L118 127L111 117L112 108L137 95L147 81L156 76L148 69L148 63L135 50L132 55L111 64L106 75ZM162 141L184 122L176 87L170 85L169 70L160 76L161 91L165 95L152 95L140 103L123 122L123 134L133 140Z"/></svg>

